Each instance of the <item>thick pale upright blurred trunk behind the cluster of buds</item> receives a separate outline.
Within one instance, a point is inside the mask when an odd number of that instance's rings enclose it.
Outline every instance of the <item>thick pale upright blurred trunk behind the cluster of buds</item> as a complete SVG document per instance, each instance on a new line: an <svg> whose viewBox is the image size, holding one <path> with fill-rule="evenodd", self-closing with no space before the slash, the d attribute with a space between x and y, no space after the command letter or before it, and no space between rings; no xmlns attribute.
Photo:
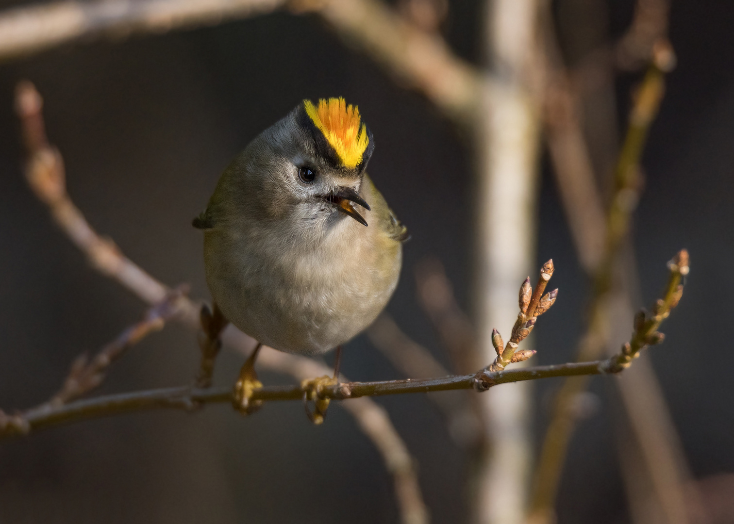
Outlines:
<svg viewBox="0 0 734 524"><path fill-rule="evenodd" d="M533 271L540 112L537 18L542 2L488 0L487 73L476 125L473 272L479 359L495 358L492 328L517 316L515 286ZM504 328L503 328L504 329ZM487 445L476 468L475 524L520 524L526 513L531 442L530 385L483 396Z"/></svg>

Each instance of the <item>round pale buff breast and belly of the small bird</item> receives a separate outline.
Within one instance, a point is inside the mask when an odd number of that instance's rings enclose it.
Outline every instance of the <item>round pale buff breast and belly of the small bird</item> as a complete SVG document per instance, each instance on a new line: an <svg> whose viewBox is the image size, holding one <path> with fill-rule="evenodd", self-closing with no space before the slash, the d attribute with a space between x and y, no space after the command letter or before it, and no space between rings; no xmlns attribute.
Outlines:
<svg viewBox="0 0 734 524"><path fill-rule="evenodd" d="M385 308L398 281L401 245L369 212L368 228L348 216L321 239L265 241L206 233L207 282L225 316L285 352L319 354L349 341Z"/></svg>

